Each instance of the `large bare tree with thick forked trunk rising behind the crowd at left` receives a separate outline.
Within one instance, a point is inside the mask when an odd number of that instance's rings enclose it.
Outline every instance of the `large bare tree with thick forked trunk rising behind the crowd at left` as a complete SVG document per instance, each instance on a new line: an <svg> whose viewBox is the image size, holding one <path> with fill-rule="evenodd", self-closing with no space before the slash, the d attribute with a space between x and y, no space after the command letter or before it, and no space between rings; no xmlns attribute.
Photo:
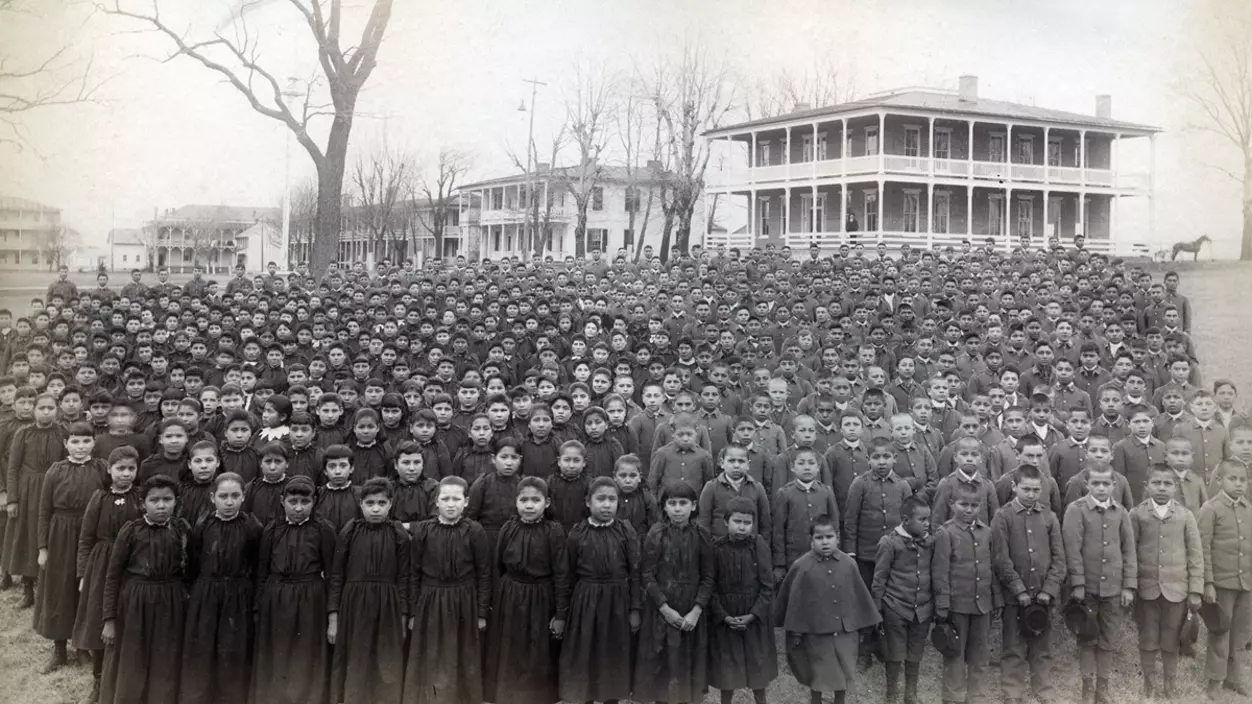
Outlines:
<svg viewBox="0 0 1252 704"><path fill-rule="evenodd" d="M134 20L169 40L172 60L178 56L200 64L222 76L243 95L252 109L277 120L292 132L300 147L313 159L318 174L317 218L312 251L313 271L321 272L337 259L339 244L339 215L343 208L343 179L348 163L348 137L357 111L357 98L378 64L387 24L391 21L393 0L373 0L357 40L343 45L343 0L285 0L307 26L322 70L329 104L313 100L313 89L319 83L310 81L298 100L294 91L284 85L272 70L262 65L260 40L248 24L248 14L260 5L280 0L239 0L235 10L212 33L190 38L190 30L167 21L160 13L162 0L109 0L104 10ZM351 8L351 4L349 4ZM225 30L230 31L227 33ZM309 124L318 118L329 118L326 145L319 145L310 134Z"/></svg>

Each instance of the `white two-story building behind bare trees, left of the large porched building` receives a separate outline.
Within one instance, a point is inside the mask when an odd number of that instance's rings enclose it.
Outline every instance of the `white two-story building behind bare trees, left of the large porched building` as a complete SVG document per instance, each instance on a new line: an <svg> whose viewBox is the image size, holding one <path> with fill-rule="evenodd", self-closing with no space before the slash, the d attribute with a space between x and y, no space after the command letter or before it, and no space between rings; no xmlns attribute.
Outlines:
<svg viewBox="0 0 1252 704"><path fill-rule="evenodd" d="M527 252L530 223L535 219L533 210L527 207L531 189L538 194L541 227L535 229L542 232L542 225L547 223L551 233L542 256L581 259L592 249L598 249L612 257L617 249L625 248L634 257L636 247L659 247L661 242L665 217L660 182L652 175L657 168L657 164L650 163L631 174L625 167L600 167L600 178L588 193L583 237L577 237L578 210L573 197L573 189L580 188L581 167L550 168L548 164L540 164L531 174L471 183L462 187L461 193L472 195L482 204L476 232L482 257L516 256L525 259L532 254ZM699 215L697 208L691 224L692 242L699 242L697 233L702 228ZM640 242L641 238L644 242Z"/></svg>

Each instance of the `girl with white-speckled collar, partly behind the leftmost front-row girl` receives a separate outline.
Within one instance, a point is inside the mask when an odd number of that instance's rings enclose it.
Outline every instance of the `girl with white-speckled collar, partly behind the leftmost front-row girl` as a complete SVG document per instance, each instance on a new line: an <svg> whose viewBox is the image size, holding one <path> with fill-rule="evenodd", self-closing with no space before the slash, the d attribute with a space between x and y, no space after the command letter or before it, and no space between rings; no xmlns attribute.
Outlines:
<svg viewBox="0 0 1252 704"><path fill-rule="evenodd" d="M100 696L100 675L104 671L100 615L113 541L121 526L138 519L143 509L143 497L135 485L139 452L134 447L118 447L109 453L108 461L108 489L96 490L88 501L78 544L79 603L74 616L74 648L91 653L91 693L88 701Z"/></svg>

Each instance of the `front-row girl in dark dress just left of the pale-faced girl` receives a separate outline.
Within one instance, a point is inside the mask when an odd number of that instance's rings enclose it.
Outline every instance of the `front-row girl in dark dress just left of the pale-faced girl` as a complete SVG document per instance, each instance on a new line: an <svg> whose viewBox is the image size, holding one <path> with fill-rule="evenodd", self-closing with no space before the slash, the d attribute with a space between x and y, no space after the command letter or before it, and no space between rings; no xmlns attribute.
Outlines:
<svg viewBox="0 0 1252 704"><path fill-rule="evenodd" d="M404 680L408 532L391 520L391 481L361 487L361 514L336 542L329 581L331 701L397 704Z"/></svg>

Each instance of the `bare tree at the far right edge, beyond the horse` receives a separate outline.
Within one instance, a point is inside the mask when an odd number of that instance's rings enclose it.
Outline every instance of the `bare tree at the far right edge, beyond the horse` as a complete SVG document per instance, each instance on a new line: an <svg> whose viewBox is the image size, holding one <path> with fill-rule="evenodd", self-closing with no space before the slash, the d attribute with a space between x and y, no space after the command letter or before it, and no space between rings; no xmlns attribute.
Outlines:
<svg viewBox="0 0 1252 704"><path fill-rule="evenodd" d="M1224 5L1229 11L1204 31L1197 75L1179 91L1202 115L1197 127L1238 150L1237 169L1212 165L1242 187L1239 259L1247 262L1252 261L1252 13L1244 3Z"/></svg>

